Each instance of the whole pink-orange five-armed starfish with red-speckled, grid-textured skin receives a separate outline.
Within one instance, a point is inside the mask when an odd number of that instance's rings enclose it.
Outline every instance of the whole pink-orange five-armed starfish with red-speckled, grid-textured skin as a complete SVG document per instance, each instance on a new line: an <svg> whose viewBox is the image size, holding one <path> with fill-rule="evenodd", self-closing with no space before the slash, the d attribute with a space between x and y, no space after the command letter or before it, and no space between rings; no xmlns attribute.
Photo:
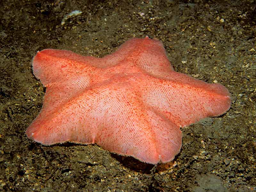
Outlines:
<svg viewBox="0 0 256 192"><path fill-rule="evenodd" d="M175 72L163 44L132 38L103 58L45 49L33 59L46 87L26 134L44 145L96 143L142 162L168 162L180 152L180 127L230 108L230 94Z"/></svg>

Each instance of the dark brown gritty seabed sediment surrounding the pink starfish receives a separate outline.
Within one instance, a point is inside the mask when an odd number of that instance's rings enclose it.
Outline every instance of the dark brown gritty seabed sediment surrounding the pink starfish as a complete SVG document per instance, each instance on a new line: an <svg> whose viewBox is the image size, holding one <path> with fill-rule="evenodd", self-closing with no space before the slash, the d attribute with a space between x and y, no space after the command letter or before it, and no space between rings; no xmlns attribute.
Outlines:
<svg viewBox="0 0 256 192"><path fill-rule="evenodd" d="M255 0L42 2L0 2L0 190L256 190ZM74 10L83 13L61 25ZM231 93L226 114L182 128L174 166L153 167L97 145L47 147L26 137L45 92L32 74L36 51L102 57L146 35L163 42L176 71Z"/></svg>

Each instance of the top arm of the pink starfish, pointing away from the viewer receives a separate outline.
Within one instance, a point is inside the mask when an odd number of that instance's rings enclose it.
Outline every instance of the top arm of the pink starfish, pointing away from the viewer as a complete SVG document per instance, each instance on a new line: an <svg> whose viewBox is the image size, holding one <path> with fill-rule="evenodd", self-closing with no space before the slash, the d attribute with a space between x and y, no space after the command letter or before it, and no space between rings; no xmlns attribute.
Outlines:
<svg viewBox="0 0 256 192"><path fill-rule="evenodd" d="M162 42L148 37L126 41L116 52L103 57L102 61L108 67L131 62L150 74L173 70Z"/></svg>

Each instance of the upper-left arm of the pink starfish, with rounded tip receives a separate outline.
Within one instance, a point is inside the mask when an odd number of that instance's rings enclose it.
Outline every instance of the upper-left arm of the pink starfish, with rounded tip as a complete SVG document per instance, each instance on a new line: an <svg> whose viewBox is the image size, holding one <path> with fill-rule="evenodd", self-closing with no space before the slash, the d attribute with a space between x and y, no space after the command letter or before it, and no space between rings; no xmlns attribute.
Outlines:
<svg viewBox="0 0 256 192"><path fill-rule="evenodd" d="M77 91L91 83L99 58L85 57L72 51L44 49L33 58L33 72L44 86L56 83ZM97 71L98 72L98 71Z"/></svg>

